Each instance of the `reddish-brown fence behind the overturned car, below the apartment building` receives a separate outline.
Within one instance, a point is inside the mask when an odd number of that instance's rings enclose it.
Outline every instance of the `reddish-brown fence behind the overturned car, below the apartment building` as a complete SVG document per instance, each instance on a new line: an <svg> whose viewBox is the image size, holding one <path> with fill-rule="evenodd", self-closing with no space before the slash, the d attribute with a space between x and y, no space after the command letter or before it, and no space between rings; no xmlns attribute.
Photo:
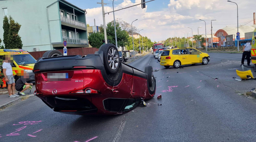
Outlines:
<svg viewBox="0 0 256 142"><path fill-rule="evenodd" d="M63 53L63 49L58 49ZM95 51L98 51L98 48L68 48L67 49L67 55L87 55L87 54L94 54ZM38 60L40 57L43 56L43 54L46 51L35 51L35 52L29 52L30 55L32 55L36 60Z"/></svg>

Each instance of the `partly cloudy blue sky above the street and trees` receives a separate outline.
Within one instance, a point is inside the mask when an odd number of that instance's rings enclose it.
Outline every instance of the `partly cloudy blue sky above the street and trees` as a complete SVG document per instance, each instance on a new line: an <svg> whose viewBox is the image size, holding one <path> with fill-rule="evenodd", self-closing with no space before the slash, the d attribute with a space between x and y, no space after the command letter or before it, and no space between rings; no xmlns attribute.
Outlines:
<svg viewBox="0 0 256 142"><path fill-rule="evenodd" d="M79 8L86 9L86 23L93 26L103 24L101 0L67 0ZM149 1L149 0L146 0ZM232 0L238 4L239 25L252 26L255 5L251 0ZM141 0L115 0L114 9L121 9L140 3ZM112 11L112 0L104 0L105 12ZM152 41L165 40L169 37L185 37L211 33L211 20L213 21L213 34L224 27L236 27L236 5L227 0L154 0L146 3L146 8L141 5L115 12L116 19L133 23L137 29L143 29L140 34L147 36ZM206 21L200 21L199 19ZM113 13L106 14L106 23L113 20ZM199 28L198 27L202 27ZM184 33L182 33L184 32ZM190 33L191 32L191 33ZM235 34L235 33L234 33ZM208 35L207 35L208 36Z"/></svg>

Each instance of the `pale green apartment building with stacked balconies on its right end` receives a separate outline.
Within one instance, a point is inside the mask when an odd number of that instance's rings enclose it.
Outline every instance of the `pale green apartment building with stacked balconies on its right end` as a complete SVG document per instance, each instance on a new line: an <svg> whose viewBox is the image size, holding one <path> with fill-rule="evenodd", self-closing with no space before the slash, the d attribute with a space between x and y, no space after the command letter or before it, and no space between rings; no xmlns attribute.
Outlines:
<svg viewBox="0 0 256 142"><path fill-rule="evenodd" d="M86 11L65 0L0 0L0 8L0 19L12 16L21 24L19 35L27 51L61 49L64 40L67 48L89 47ZM0 22L1 39L2 26Z"/></svg>

